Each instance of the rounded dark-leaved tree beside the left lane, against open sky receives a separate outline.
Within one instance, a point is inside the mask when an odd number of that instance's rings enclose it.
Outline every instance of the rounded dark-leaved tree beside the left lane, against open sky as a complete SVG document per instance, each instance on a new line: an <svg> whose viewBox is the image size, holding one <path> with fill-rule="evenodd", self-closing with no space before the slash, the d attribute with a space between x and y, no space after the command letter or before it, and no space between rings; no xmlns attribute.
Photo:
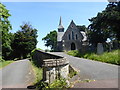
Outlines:
<svg viewBox="0 0 120 90"><path fill-rule="evenodd" d="M21 30L14 35L12 43L14 58L26 58L37 45L37 29L29 23L20 26Z"/></svg>

